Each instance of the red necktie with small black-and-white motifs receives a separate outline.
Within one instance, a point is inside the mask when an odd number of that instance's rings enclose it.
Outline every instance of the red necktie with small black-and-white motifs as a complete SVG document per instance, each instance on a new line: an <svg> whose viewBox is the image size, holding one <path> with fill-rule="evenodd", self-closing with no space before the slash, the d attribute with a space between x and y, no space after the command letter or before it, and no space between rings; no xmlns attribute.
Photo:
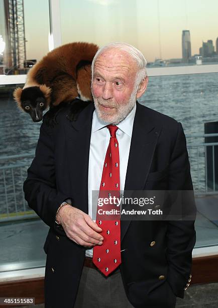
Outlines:
<svg viewBox="0 0 218 308"><path fill-rule="evenodd" d="M120 198L120 158L116 137L118 127L107 125L107 128L110 130L111 138L104 160L98 198L111 200L113 198L114 200L114 197ZM100 234L103 236L103 244L94 246L92 261L105 276L108 276L121 264L120 206L116 203L109 205L103 203L103 206L99 206L98 203L97 205L96 223L102 228ZM109 216L108 214L102 215L98 210L109 210L113 213L110 213Z"/></svg>

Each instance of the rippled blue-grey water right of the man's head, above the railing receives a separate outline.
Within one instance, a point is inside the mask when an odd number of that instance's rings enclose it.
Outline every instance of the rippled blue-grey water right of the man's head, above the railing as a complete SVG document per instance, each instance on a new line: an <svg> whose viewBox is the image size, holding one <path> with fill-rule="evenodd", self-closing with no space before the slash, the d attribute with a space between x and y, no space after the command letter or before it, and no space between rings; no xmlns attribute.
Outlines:
<svg viewBox="0 0 218 308"><path fill-rule="evenodd" d="M218 73L158 76L149 79L140 103L182 123L186 134L204 133L218 120Z"/></svg>

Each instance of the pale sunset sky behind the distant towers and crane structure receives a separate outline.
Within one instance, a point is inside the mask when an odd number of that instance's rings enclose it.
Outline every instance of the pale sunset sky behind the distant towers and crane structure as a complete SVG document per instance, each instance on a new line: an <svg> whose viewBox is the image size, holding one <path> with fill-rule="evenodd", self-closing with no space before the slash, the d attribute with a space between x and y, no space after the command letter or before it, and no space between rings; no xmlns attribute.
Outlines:
<svg viewBox="0 0 218 308"><path fill-rule="evenodd" d="M0 35L4 37L3 0ZM27 58L48 52L48 0L24 0ZM102 46L123 41L148 61L182 56L182 30L190 30L191 53L218 37L217 0L60 0L62 44L86 41Z"/></svg>

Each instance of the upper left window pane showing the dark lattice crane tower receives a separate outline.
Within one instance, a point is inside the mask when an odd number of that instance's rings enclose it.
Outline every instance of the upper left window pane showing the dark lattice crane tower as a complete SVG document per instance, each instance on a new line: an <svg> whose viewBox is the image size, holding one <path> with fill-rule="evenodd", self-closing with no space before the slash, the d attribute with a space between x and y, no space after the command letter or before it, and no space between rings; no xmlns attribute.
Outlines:
<svg viewBox="0 0 218 308"><path fill-rule="evenodd" d="M49 51L48 2L0 0L0 12L0 74L25 74Z"/></svg>

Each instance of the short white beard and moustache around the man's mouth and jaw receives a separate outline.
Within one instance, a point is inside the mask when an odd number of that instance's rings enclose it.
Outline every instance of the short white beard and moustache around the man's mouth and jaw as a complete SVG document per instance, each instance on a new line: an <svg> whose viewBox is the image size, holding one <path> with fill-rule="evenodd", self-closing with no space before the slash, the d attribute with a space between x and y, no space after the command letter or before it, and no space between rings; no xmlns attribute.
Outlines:
<svg viewBox="0 0 218 308"><path fill-rule="evenodd" d="M114 124L117 125L121 121L123 121L128 114L133 109L135 103L136 103L136 94L137 94L138 88L134 89L129 101L126 104L117 104L114 103L113 100L104 100L102 98L96 98L94 97L93 93L93 100L94 100L94 106L97 112L98 118L103 121L106 124ZM103 105L108 107L114 107L116 108L117 112L113 115L108 114L106 111L101 111L98 106Z"/></svg>

